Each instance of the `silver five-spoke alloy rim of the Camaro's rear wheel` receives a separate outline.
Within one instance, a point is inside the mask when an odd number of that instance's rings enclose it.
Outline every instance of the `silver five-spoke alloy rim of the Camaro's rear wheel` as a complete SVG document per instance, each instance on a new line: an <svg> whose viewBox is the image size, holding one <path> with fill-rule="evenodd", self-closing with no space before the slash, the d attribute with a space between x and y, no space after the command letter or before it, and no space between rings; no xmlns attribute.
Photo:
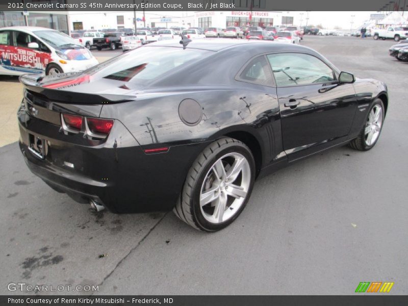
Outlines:
<svg viewBox="0 0 408 306"><path fill-rule="evenodd" d="M202 216L211 223L232 218L240 209L251 183L251 168L239 153L219 158L207 172L200 192Z"/></svg>

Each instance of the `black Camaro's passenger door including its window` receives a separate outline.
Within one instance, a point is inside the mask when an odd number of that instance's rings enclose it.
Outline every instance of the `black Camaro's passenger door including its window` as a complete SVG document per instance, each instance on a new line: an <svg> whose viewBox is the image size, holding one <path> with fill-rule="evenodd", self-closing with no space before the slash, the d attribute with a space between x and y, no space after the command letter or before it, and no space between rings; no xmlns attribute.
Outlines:
<svg viewBox="0 0 408 306"><path fill-rule="evenodd" d="M344 141L356 110L352 84L305 53L267 55L277 86L282 137L289 161Z"/></svg>

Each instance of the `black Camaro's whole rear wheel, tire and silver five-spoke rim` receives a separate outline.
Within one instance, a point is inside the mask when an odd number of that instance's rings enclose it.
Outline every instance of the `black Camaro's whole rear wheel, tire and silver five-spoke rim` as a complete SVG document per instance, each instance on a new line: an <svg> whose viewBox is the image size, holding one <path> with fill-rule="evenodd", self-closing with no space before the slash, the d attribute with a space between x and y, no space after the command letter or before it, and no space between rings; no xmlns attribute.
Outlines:
<svg viewBox="0 0 408 306"><path fill-rule="evenodd" d="M242 212L254 180L250 149L239 140L221 138L194 161L173 211L197 230L219 231Z"/></svg>

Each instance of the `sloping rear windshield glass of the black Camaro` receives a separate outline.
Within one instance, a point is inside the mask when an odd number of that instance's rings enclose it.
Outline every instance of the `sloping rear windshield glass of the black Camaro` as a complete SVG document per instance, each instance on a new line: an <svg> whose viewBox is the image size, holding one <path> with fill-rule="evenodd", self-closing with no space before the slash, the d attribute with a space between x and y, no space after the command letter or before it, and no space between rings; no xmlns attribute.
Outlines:
<svg viewBox="0 0 408 306"><path fill-rule="evenodd" d="M145 85L181 65L212 54L201 49L174 47L142 47L94 66L86 71L95 79L111 79Z"/></svg>

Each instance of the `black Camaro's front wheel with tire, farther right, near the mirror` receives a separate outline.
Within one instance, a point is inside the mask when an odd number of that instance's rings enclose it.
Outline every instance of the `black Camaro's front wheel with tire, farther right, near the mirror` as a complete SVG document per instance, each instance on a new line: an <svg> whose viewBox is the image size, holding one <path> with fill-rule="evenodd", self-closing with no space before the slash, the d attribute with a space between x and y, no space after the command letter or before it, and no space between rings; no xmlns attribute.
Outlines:
<svg viewBox="0 0 408 306"><path fill-rule="evenodd" d="M381 99L377 98L368 112L366 123L359 136L350 142L350 146L360 151L368 151L373 148L381 134L384 116L384 104Z"/></svg>

